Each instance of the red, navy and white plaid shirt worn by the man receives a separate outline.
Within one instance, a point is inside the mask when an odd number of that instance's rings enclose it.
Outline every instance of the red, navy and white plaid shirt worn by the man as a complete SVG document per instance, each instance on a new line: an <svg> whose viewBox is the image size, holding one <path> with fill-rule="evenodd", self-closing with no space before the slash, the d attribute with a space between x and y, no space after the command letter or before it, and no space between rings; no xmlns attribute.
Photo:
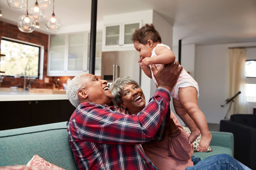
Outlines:
<svg viewBox="0 0 256 170"><path fill-rule="evenodd" d="M78 168L153 169L140 144L164 139L169 102L169 91L159 87L138 115L119 113L113 106L81 103L67 123Z"/></svg>

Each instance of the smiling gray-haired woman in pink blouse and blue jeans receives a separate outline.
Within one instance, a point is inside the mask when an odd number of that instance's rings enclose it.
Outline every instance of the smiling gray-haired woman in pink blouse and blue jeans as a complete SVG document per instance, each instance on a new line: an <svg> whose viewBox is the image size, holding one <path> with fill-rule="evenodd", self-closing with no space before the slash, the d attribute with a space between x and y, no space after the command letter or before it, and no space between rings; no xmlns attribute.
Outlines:
<svg viewBox="0 0 256 170"><path fill-rule="evenodd" d="M145 96L138 83L130 77L120 77L110 87L113 103L119 112L138 114L145 107ZM192 144L188 145L188 134L170 111L169 128L163 141L143 144L148 158L159 170L229 169L243 170L242 166L228 154L210 156L204 160L193 156ZM191 157L194 162L191 161Z"/></svg>

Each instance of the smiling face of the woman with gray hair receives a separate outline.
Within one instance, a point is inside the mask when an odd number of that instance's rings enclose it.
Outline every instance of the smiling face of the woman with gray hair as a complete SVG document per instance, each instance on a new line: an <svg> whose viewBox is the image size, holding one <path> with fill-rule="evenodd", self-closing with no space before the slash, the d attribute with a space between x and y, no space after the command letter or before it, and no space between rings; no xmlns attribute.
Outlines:
<svg viewBox="0 0 256 170"><path fill-rule="evenodd" d="M131 114L137 114L144 109L146 104L142 89L135 84L123 86L121 100L123 102L120 105L127 108Z"/></svg>

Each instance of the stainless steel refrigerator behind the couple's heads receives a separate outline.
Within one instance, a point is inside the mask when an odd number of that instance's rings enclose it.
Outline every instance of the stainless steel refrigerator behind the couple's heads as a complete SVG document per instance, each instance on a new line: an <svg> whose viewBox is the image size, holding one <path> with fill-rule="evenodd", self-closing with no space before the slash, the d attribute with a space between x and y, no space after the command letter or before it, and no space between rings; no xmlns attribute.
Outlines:
<svg viewBox="0 0 256 170"><path fill-rule="evenodd" d="M141 68L138 64L138 51L102 52L101 79L107 80L110 86L118 77L129 76L140 85Z"/></svg>

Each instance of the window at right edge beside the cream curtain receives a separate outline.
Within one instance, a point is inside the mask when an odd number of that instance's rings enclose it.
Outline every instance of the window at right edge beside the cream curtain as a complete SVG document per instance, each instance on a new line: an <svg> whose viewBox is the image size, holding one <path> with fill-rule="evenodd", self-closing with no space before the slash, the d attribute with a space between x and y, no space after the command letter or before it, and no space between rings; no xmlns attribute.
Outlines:
<svg viewBox="0 0 256 170"><path fill-rule="evenodd" d="M245 62L246 101L256 102L256 60Z"/></svg>

